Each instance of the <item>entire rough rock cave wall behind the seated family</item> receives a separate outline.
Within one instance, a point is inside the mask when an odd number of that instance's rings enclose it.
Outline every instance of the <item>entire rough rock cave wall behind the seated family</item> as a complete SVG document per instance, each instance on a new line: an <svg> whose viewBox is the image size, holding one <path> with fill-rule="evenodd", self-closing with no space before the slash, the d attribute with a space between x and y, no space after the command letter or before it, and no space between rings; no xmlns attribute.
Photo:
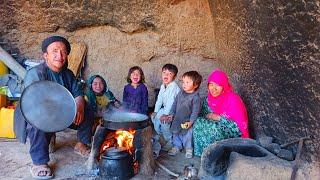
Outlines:
<svg viewBox="0 0 320 180"><path fill-rule="evenodd" d="M139 65L149 105L163 64L175 63L178 77L188 70L206 77L220 67L248 107L253 137L283 143L311 135L303 154L319 161L319 6L317 0L6 0L0 42L19 59L40 59L40 43L51 34L85 42L85 77L103 75L121 99L128 69Z"/></svg>

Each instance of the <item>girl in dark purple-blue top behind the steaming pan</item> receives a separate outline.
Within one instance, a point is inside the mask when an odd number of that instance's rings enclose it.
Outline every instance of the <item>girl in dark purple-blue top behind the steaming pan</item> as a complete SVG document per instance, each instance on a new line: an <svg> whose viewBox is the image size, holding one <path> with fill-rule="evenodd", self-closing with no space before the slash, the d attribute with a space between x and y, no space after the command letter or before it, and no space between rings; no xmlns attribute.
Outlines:
<svg viewBox="0 0 320 180"><path fill-rule="evenodd" d="M147 114L148 90L144 83L144 74L139 66L129 69L128 84L123 90L123 103L131 112Z"/></svg>

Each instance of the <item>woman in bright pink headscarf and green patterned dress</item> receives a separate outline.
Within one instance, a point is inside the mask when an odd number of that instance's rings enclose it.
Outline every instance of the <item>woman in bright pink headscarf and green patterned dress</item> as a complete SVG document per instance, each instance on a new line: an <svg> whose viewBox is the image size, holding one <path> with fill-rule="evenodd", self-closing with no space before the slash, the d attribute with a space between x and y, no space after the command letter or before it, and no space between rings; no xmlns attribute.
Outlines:
<svg viewBox="0 0 320 180"><path fill-rule="evenodd" d="M215 70L208 77L208 97L193 126L194 154L201 156L209 144L239 136L249 137L246 107L227 75Z"/></svg>

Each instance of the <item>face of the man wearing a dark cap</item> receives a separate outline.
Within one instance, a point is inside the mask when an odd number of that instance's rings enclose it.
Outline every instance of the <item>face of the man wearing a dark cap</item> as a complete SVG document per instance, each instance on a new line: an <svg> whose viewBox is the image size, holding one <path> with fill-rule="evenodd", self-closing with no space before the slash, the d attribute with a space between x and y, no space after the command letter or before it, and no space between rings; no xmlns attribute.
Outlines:
<svg viewBox="0 0 320 180"><path fill-rule="evenodd" d="M59 41L51 43L47 47L47 52L43 54L43 57L51 70L60 72L67 62L67 47L64 43Z"/></svg>

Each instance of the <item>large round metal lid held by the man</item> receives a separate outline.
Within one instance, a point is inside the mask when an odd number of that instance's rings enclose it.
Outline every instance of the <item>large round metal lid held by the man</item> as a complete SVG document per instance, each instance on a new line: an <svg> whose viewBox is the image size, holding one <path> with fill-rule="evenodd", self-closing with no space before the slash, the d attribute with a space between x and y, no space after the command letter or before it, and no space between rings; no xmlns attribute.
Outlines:
<svg viewBox="0 0 320 180"><path fill-rule="evenodd" d="M52 81L38 81L24 89L20 106L28 123L45 132L68 128L76 116L72 94Z"/></svg>

